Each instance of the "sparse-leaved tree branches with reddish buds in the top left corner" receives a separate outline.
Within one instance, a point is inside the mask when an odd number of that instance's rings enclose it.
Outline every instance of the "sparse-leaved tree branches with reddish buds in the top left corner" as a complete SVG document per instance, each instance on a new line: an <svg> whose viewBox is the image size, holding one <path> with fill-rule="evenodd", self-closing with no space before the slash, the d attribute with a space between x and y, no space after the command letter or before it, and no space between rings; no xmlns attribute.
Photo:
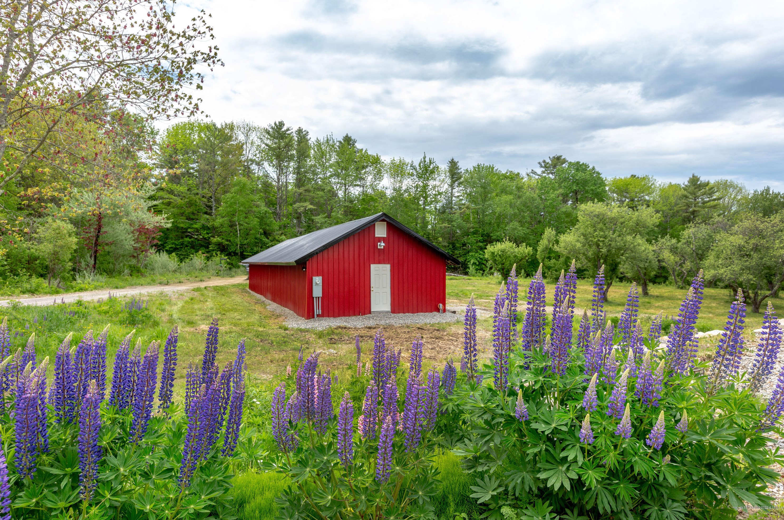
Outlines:
<svg viewBox="0 0 784 520"><path fill-rule="evenodd" d="M199 112L200 67L220 60L203 11L175 27L168 0L24 0L0 16L0 189L31 161L69 174L96 161L107 107L151 121ZM121 117L122 120L122 117ZM80 179L81 180L81 179Z"/></svg>

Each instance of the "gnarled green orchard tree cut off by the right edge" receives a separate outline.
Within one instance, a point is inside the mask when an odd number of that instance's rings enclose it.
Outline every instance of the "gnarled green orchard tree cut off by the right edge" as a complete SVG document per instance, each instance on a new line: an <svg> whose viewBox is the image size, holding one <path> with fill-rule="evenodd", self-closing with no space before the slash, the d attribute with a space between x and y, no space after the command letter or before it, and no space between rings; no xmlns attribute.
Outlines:
<svg viewBox="0 0 784 520"><path fill-rule="evenodd" d="M706 262L706 277L743 291L753 312L784 282L784 215L750 215L719 233Z"/></svg>

